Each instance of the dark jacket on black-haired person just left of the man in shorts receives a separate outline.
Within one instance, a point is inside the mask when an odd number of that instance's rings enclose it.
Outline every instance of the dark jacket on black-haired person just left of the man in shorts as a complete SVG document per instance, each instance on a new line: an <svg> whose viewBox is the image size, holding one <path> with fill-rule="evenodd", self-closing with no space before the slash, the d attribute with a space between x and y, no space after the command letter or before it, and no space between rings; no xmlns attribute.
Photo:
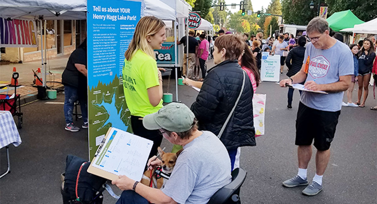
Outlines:
<svg viewBox="0 0 377 204"><path fill-rule="evenodd" d="M305 57L305 47L298 46L289 51L285 64L288 67L287 76L291 77L301 70ZM292 63L291 63L292 59Z"/></svg>

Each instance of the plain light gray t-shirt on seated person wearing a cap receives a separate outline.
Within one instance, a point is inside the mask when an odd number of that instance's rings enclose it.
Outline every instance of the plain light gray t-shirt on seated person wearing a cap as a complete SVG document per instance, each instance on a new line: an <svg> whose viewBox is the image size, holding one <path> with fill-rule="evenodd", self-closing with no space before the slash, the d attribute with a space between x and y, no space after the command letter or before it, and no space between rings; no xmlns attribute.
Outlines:
<svg viewBox="0 0 377 204"><path fill-rule="evenodd" d="M227 149L209 131L203 131L183 149L162 192L180 204L205 204L231 182Z"/></svg>

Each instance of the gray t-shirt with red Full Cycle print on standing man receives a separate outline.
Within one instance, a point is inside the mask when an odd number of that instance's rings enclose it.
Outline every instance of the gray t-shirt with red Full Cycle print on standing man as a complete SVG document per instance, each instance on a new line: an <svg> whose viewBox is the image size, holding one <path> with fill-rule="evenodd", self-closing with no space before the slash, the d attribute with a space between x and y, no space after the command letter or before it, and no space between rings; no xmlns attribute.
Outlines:
<svg viewBox="0 0 377 204"><path fill-rule="evenodd" d="M339 81L339 76L353 75L353 55L349 47L336 41L329 49L316 49L307 43L303 64L310 57L308 76L306 81L317 84L331 84ZM305 82L306 82L305 81ZM322 111L339 111L342 109L343 91L337 93L313 93L303 91L300 101L307 107Z"/></svg>

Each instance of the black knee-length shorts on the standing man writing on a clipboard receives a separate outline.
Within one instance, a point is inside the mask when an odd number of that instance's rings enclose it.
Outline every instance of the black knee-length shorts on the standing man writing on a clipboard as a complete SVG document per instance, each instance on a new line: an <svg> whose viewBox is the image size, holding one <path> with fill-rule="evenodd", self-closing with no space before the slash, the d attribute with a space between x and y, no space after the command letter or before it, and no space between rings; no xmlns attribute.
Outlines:
<svg viewBox="0 0 377 204"><path fill-rule="evenodd" d="M296 119L295 145L311 145L325 151L334 139L340 111L321 111L309 108L300 102Z"/></svg>

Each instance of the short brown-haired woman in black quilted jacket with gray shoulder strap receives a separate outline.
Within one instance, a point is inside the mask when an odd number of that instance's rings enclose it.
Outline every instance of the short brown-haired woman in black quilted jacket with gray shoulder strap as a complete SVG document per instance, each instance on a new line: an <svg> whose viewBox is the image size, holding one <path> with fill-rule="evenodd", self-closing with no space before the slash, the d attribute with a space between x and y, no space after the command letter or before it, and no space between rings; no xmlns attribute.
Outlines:
<svg viewBox="0 0 377 204"><path fill-rule="evenodd" d="M216 65L208 70L201 91L191 106L199 121L199 129L219 135L236 103L245 76L242 95L220 138L228 150L232 170L239 167L239 160L236 159L239 158L239 147L256 145L251 101L253 87L247 73L238 64L244 47L245 42L239 35L223 35L216 38L213 51ZM195 85L192 80L185 79L184 82Z"/></svg>

